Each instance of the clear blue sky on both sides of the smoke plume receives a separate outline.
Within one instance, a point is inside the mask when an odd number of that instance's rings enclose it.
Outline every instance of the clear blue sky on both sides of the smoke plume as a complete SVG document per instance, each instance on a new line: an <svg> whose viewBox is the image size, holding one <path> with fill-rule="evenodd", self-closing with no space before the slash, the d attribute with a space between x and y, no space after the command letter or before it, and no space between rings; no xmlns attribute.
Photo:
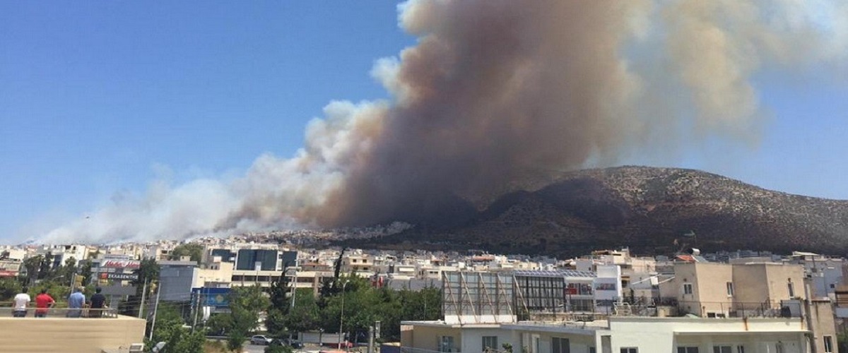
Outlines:
<svg viewBox="0 0 848 353"><path fill-rule="evenodd" d="M387 97L377 58L415 43L396 3L0 3L0 240L83 217L170 169L179 182L288 156L334 99ZM848 199L848 91L821 71L756 79L760 141L622 163L702 168Z"/></svg>

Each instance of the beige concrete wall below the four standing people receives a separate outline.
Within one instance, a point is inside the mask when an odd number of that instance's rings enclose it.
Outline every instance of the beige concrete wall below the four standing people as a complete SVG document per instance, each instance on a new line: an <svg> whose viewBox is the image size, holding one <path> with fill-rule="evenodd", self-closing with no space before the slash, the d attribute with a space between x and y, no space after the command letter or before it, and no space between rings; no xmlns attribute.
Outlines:
<svg viewBox="0 0 848 353"><path fill-rule="evenodd" d="M30 314L32 315L32 314ZM142 319L0 317L0 351L100 353L144 341Z"/></svg>

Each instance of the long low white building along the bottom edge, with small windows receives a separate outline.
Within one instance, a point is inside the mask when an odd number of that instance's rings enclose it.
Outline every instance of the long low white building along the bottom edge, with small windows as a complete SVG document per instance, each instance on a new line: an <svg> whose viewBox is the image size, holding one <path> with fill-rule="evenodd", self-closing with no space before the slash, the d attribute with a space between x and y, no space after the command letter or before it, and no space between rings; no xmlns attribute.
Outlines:
<svg viewBox="0 0 848 353"><path fill-rule="evenodd" d="M402 351L527 353L806 353L812 332L801 317L609 317L586 323L403 322ZM817 338L836 352L835 336ZM825 343L827 342L827 343Z"/></svg>

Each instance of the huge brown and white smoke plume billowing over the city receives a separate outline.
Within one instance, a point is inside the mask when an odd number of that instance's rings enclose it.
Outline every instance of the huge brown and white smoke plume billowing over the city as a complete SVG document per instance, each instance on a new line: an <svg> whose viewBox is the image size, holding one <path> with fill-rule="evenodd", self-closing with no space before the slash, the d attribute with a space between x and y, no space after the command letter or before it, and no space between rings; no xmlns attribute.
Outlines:
<svg viewBox="0 0 848 353"><path fill-rule="evenodd" d="M331 102L294 157L243 177L156 182L49 241L153 240L450 218L656 135L756 136L753 74L838 63L827 1L412 0L419 38L372 75L388 102ZM469 203L470 201L470 203Z"/></svg>

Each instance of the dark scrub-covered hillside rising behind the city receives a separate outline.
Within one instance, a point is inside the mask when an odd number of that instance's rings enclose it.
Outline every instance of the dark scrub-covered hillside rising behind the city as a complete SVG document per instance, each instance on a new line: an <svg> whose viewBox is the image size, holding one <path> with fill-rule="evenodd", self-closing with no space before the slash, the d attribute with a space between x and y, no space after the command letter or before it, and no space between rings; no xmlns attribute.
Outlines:
<svg viewBox="0 0 848 353"><path fill-rule="evenodd" d="M846 240L848 201L764 190L697 170L619 167L563 174L538 190L500 196L462 222L430 219L367 245L558 256L622 245L643 253L695 246L844 254Z"/></svg>

